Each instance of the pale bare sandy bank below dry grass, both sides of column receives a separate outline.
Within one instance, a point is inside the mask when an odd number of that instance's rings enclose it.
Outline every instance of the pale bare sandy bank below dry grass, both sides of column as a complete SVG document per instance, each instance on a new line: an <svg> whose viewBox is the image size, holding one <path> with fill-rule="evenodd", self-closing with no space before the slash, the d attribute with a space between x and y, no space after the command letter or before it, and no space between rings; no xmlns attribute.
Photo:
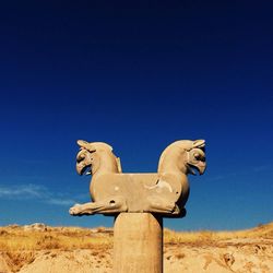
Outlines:
<svg viewBox="0 0 273 273"><path fill-rule="evenodd" d="M22 251L20 257L24 259ZM4 251L0 252L0 273L10 273L11 269L20 273L108 273L112 271L112 249L35 250L19 270L12 266L14 261ZM166 242L164 272L272 273L273 238Z"/></svg>

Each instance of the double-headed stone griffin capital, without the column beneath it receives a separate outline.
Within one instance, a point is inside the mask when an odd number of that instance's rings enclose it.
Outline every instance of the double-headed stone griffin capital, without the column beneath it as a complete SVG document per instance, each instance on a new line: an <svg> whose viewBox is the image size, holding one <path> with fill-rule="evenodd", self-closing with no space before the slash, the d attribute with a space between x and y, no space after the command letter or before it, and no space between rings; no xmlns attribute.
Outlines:
<svg viewBox="0 0 273 273"><path fill-rule="evenodd" d="M111 146L103 142L78 141L76 170L92 174L93 202L70 209L72 215L120 212L153 212L185 215L189 195L188 174L205 170L204 141L177 141L162 153L157 174L122 174Z"/></svg>

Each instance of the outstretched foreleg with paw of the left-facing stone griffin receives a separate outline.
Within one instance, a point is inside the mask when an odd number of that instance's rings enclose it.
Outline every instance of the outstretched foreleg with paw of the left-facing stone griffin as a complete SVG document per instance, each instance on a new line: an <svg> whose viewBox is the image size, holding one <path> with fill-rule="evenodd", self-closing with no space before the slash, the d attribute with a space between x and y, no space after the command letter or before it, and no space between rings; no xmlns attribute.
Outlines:
<svg viewBox="0 0 273 273"><path fill-rule="evenodd" d="M91 215L95 213L118 213L128 210L123 198L114 197L98 202L75 204L69 210L73 216Z"/></svg>

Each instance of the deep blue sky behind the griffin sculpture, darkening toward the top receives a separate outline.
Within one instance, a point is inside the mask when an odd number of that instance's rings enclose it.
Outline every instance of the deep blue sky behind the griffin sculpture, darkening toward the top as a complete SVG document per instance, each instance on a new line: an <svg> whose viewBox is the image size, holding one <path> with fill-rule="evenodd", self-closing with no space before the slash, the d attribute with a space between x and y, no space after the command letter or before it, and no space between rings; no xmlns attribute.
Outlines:
<svg viewBox="0 0 273 273"><path fill-rule="evenodd" d="M111 144L129 173L205 139L188 215L165 226L271 222L273 5L253 2L1 3L0 225L111 226L68 214L90 200L78 139Z"/></svg>

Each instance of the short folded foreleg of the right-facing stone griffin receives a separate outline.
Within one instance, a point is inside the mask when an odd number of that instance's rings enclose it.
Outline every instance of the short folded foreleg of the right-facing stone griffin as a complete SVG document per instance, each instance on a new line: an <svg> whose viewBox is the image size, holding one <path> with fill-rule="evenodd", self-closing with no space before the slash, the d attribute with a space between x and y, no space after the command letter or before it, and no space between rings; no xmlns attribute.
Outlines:
<svg viewBox="0 0 273 273"><path fill-rule="evenodd" d="M169 200L158 197L149 197L145 212L179 214L180 209L175 202Z"/></svg>

